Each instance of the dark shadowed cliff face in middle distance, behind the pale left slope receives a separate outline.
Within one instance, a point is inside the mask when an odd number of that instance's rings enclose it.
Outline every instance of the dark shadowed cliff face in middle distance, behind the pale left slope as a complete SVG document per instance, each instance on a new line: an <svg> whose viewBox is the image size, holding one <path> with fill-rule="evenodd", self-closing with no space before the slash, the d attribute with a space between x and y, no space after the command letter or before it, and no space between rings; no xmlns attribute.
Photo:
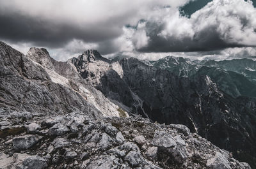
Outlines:
<svg viewBox="0 0 256 169"><path fill-rule="evenodd" d="M237 158L249 156L250 161L255 161L255 99L235 98L223 90L220 85L224 86L227 80L214 80L223 79L218 71L225 70L215 71L216 68L198 66L181 58L172 60L174 57L168 58L168 66L152 62L148 65L134 58L98 58L73 63L80 65L77 71L86 75L83 77L88 82L107 98L124 105L122 108L127 112L165 124L184 124L222 149L234 152ZM173 67L180 64L183 69L177 73ZM191 70L186 74L185 68ZM232 77L234 74L228 72L230 79L237 81L235 87L243 82L252 84L242 75ZM248 83L239 89L245 89Z"/></svg>

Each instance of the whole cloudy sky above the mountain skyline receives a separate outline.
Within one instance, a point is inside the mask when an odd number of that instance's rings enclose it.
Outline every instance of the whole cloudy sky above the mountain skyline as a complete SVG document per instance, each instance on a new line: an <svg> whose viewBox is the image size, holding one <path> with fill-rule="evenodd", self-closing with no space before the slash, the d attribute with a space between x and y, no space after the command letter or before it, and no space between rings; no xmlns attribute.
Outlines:
<svg viewBox="0 0 256 169"><path fill-rule="evenodd" d="M256 0L0 0L0 40L26 54L44 47L67 61L256 56Z"/></svg>

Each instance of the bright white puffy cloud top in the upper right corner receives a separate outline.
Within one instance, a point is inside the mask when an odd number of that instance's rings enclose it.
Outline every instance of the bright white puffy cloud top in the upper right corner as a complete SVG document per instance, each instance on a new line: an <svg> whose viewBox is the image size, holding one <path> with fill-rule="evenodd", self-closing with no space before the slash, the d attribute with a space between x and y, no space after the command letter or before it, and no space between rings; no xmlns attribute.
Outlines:
<svg viewBox="0 0 256 169"><path fill-rule="evenodd" d="M256 45L256 9L252 1L214 0L191 15L196 33L215 27L226 43Z"/></svg>

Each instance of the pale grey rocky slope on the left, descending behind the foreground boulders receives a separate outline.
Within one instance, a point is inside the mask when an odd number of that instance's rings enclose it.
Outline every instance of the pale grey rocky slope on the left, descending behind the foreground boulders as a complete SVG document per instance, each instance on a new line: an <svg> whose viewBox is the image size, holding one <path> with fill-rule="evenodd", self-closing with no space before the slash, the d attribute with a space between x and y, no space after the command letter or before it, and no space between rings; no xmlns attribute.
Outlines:
<svg viewBox="0 0 256 169"><path fill-rule="evenodd" d="M88 84L73 65L55 61L44 48L31 48L23 55L0 42L0 75L1 107L44 114L83 111L95 118L119 116L119 107Z"/></svg>

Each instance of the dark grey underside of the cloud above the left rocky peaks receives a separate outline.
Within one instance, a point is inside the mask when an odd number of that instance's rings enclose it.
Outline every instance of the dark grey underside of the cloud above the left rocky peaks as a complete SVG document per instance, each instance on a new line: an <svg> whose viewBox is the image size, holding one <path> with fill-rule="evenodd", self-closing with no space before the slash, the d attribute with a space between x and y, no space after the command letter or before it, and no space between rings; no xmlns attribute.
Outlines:
<svg viewBox="0 0 256 169"><path fill-rule="evenodd" d="M0 15L0 37L10 41L33 41L35 45L61 47L72 39L87 42L111 40L120 36L122 29L108 26L106 23L97 26L72 26L60 24L42 18L24 15Z"/></svg>

